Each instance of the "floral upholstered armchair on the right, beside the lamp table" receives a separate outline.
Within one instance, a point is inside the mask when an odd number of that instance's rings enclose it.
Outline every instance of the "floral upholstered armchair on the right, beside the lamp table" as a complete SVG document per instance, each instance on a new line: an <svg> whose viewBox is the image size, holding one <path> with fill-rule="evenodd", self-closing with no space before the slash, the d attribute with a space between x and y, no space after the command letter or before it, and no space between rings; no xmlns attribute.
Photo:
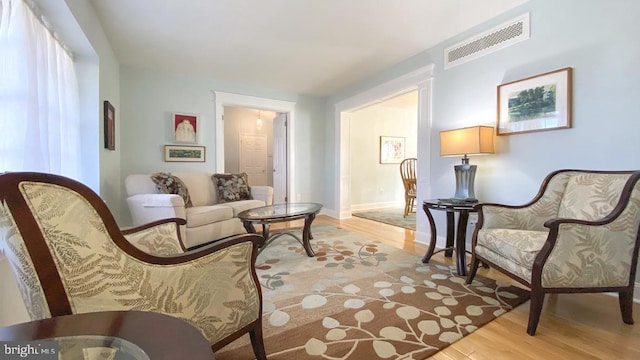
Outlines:
<svg viewBox="0 0 640 360"><path fill-rule="evenodd" d="M559 170L526 205L479 204L467 283L480 262L531 289L534 335L546 293L617 292L633 324L640 171Z"/></svg>

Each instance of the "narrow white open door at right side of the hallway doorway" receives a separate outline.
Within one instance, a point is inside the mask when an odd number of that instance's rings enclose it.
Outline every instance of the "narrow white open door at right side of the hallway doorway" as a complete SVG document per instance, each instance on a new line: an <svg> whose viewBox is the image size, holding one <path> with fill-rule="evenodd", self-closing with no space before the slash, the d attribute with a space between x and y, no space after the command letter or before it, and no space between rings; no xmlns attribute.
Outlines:
<svg viewBox="0 0 640 360"><path fill-rule="evenodd" d="M278 113L273 118L273 203L289 201L287 191L287 114Z"/></svg>

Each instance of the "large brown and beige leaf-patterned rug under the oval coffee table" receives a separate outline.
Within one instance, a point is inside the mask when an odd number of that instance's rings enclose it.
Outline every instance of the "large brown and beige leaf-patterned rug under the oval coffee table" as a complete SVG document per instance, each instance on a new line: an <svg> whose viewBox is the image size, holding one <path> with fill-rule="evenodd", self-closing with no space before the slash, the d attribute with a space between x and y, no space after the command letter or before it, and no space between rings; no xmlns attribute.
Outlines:
<svg viewBox="0 0 640 360"><path fill-rule="evenodd" d="M372 241L312 227L316 257L282 236L258 256L268 358L424 359L528 299L527 291ZM254 359L248 336L216 353Z"/></svg>

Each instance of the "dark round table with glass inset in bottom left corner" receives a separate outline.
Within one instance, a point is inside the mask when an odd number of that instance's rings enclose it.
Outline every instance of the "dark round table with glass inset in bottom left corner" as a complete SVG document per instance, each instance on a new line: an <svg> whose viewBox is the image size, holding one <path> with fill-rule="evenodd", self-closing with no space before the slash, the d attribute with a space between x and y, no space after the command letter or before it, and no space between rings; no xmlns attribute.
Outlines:
<svg viewBox="0 0 640 360"><path fill-rule="evenodd" d="M56 316L0 328L1 341L55 341L60 359L83 359L83 349L115 350L116 359L214 359L202 333L178 318L145 311Z"/></svg>

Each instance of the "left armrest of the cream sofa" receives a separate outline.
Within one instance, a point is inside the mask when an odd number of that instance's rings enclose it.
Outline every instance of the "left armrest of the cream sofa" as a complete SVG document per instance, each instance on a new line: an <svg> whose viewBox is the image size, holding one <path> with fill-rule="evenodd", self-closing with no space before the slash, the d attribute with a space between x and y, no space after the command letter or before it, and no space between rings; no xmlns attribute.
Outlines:
<svg viewBox="0 0 640 360"><path fill-rule="evenodd" d="M133 226L161 219L186 219L184 200L173 194L139 194L127 198Z"/></svg>

